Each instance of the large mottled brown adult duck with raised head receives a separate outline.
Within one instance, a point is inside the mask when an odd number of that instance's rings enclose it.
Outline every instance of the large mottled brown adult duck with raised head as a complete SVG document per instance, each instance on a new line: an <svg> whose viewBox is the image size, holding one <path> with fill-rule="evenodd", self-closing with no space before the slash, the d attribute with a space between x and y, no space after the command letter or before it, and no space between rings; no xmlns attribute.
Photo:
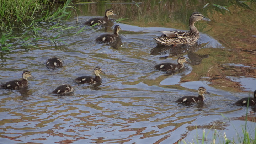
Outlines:
<svg viewBox="0 0 256 144"><path fill-rule="evenodd" d="M162 32L163 35L161 35L158 38L154 38L154 39L156 40L156 42L158 44L165 45L165 46L171 46L171 45L176 46L176 45L180 45L180 44L187 44L189 46L192 46L197 42L197 40L199 38L199 31L194 26L194 23L196 21L200 21L200 20L210 21L209 18L204 17L199 12L194 12L190 16L190 20L189 20L190 30L189 31L187 31L187 32L164 31L164 32Z"/></svg>

